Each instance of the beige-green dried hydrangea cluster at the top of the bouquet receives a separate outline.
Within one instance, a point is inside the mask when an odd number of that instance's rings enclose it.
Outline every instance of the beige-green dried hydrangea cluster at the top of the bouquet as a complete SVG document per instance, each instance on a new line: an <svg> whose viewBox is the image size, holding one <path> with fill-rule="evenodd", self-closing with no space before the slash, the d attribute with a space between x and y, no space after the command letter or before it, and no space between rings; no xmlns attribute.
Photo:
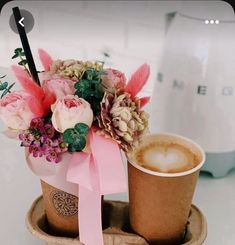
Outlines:
<svg viewBox="0 0 235 245"><path fill-rule="evenodd" d="M48 80L53 75L61 77L69 77L74 80L79 80L87 68L94 68L97 71L103 69L103 64L99 62L78 61L78 60L55 60L53 61L50 71L44 72L43 79Z"/></svg>

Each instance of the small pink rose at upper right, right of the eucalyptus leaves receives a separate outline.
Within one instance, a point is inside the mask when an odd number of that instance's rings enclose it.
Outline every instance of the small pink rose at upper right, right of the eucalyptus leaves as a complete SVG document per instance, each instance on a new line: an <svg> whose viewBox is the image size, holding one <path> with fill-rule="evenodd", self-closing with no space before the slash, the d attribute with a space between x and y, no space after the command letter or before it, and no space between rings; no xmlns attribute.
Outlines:
<svg viewBox="0 0 235 245"><path fill-rule="evenodd" d="M106 69L106 75L102 76L102 84L105 90L113 92L116 89L122 89L126 85L126 77L124 73L115 69Z"/></svg>

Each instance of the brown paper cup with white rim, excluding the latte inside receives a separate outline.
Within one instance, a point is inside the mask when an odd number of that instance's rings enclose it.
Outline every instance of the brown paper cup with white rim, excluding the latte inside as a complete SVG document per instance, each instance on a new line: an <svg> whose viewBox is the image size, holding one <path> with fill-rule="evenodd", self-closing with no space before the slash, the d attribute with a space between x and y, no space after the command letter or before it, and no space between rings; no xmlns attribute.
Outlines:
<svg viewBox="0 0 235 245"><path fill-rule="evenodd" d="M141 167L128 155L130 224L150 244L181 244L205 153L199 145L178 135L150 135L142 142L150 137L178 142L196 153L200 162L185 172L159 173Z"/></svg>

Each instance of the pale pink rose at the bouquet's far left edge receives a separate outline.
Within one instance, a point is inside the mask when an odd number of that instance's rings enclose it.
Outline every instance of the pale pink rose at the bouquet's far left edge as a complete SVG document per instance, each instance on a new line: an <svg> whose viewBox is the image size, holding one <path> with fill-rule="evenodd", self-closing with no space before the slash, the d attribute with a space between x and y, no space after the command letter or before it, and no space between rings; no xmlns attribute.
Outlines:
<svg viewBox="0 0 235 245"><path fill-rule="evenodd" d="M30 110L28 101L31 95L12 92L0 100L0 118L11 129L26 130L35 114Z"/></svg>

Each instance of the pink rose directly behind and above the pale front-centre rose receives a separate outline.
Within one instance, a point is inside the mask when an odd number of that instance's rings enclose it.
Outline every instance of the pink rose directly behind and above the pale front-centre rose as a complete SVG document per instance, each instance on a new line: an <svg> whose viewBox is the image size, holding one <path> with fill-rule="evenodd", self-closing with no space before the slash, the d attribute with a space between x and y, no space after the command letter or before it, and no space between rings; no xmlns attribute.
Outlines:
<svg viewBox="0 0 235 245"><path fill-rule="evenodd" d="M43 81L42 87L46 92L54 93L56 99L61 99L66 95L75 94L74 84L74 80L53 75L50 79Z"/></svg>

